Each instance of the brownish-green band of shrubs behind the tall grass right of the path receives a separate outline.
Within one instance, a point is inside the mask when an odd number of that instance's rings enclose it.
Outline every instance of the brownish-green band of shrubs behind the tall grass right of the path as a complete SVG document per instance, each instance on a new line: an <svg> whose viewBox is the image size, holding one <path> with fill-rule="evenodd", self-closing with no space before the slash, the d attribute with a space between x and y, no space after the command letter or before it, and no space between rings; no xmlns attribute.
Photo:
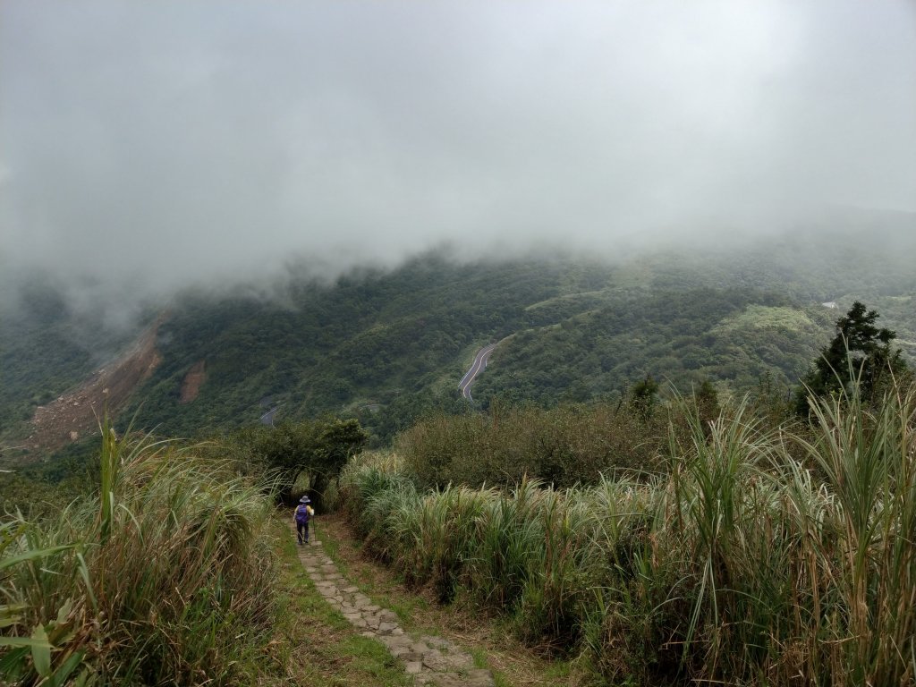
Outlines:
<svg viewBox="0 0 916 687"><path fill-rule="evenodd" d="M730 417L733 410L722 409L708 380L686 398L676 393L662 398L658 392L648 378L616 403L551 409L497 404L488 413L435 415L398 434L394 448L425 488L512 486L523 478L572 487L622 472L648 479L664 469L672 437L686 441L695 421L708 434L713 420L723 412ZM769 387L758 387L752 398L747 412L761 422L791 420L785 398Z"/></svg>

